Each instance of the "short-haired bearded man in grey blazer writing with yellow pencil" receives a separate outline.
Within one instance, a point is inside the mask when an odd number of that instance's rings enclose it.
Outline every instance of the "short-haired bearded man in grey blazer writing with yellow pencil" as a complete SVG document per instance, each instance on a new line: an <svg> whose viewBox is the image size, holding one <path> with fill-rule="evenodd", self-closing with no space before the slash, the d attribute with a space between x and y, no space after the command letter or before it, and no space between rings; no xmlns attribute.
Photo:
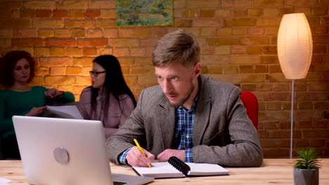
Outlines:
<svg viewBox="0 0 329 185"><path fill-rule="evenodd" d="M194 163L262 165L262 147L241 90L201 74L193 34L179 29L163 36L153 51L153 66L159 85L141 92L127 122L108 139L112 162L148 166L155 156L160 162L176 156Z"/></svg>

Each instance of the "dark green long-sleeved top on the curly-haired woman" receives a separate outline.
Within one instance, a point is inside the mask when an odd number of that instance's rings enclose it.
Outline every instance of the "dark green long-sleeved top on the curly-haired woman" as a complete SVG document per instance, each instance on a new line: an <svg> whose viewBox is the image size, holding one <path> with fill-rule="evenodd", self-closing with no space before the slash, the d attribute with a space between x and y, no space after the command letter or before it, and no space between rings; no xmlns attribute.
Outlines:
<svg viewBox="0 0 329 185"><path fill-rule="evenodd" d="M44 92L47 90L42 86L34 86L25 92L0 90L0 139L15 134L12 120L14 115L24 116L33 107L45 106L47 98ZM75 96L65 92L59 99L60 102L73 102Z"/></svg>

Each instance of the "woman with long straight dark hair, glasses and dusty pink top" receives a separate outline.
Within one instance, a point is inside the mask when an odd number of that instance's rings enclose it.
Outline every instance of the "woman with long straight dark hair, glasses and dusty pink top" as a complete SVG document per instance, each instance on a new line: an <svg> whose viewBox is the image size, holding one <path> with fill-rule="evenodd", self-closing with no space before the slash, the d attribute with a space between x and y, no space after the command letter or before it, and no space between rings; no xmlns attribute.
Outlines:
<svg viewBox="0 0 329 185"><path fill-rule="evenodd" d="M102 121L107 139L124 124L136 100L115 56L96 57L90 75L92 85L82 91L77 107L84 119Z"/></svg>

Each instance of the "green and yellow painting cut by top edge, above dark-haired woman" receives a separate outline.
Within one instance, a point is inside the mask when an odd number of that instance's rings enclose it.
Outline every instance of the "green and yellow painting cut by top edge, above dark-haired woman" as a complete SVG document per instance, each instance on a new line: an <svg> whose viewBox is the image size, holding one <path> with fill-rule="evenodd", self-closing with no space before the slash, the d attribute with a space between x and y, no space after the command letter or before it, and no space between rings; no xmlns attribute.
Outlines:
<svg viewBox="0 0 329 185"><path fill-rule="evenodd" d="M172 0L116 0L117 26L167 26L173 23Z"/></svg>

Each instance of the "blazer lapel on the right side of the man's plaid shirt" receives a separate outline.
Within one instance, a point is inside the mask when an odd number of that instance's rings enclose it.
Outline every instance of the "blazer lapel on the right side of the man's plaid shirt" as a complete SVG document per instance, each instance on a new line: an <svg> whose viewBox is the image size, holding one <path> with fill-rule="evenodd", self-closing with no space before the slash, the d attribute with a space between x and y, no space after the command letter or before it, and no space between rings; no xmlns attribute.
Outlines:
<svg viewBox="0 0 329 185"><path fill-rule="evenodd" d="M209 95L207 78L201 75L199 100L193 124L193 146L201 144L202 137L209 124L209 114L211 111L211 96Z"/></svg>

